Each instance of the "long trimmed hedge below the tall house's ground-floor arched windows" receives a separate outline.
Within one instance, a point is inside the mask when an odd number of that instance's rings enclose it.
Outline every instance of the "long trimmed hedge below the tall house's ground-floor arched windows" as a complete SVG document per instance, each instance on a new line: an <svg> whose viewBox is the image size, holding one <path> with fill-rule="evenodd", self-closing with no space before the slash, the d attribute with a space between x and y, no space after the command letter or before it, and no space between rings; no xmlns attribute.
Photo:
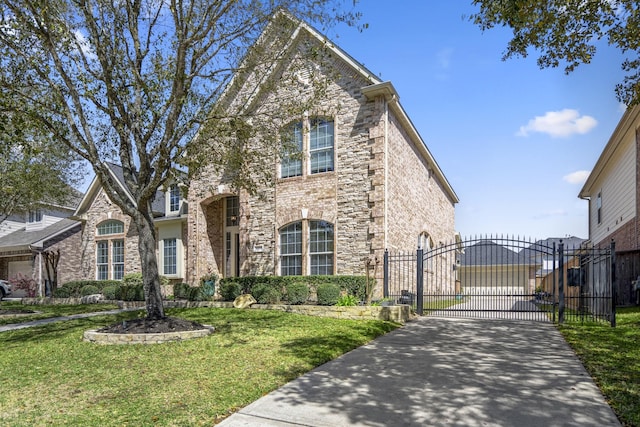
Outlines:
<svg viewBox="0 0 640 427"><path fill-rule="evenodd" d="M358 301L366 298L367 278L365 276L244 276L228 277L220 280L220 295L225 301L233 301L240 294L251 294L258 301L256 294L262 295L264 286L276 289L279 298L290 304L301 304L298 296L293 296L293 301L289 300L286 289L293 284L303 284L307 287L309 294L316 291L320 285L333 284L340 292L354 295ZM256 289L256 287L258 287ZM256 292L257 291L257 292ZM273 300L276 292L273 291L270 298ZM308 297L307 297L308 298ZM306 300L306 299L305 299ZM336 298L337 301L337 298Z"/></svg>

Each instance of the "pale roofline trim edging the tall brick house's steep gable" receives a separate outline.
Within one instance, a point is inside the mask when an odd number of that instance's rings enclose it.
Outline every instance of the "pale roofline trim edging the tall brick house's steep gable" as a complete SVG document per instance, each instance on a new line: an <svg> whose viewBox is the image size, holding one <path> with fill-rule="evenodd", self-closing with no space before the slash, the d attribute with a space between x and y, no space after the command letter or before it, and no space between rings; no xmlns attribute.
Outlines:
<svg viewBox="0 0 640 427"><path fill-rule="evenodd" d="M453 203L458 203L460 201L460 199L458 198L458 195L453 190L453 187L447 180L446 176L444 175L444 172L440 169L440 166L438 165L435 158L429 151L427 144L422 139L422 137L418 133L418 130L414 126L413 122L411 122L411 119L409 118L406 111L400 104L400 97L397 91L395 90L395 88L393 87L393 85L391 84L391 82L388 82L388 81L383 82L382 80L380 80L378 77L376 77L376 75L373 72L367 69L363 64L356 61L351 55L349 55L347 52L342 50L338 45L330 41L324 34L320 33L318 30L316 30L306 22L291 16L287 12L284 12L282 10L279 11L274 17L274 20L272 20L272 22L276 20L276 18L278 17L278 14L285 15L290 20L297 23L297 26L293 30L290 40L285 47L285 51L292 49L295 46L295 41L298 39L298 37L301 36L301 33L304 31L307 34L311 35L313 38L315 38L319 43L326 46L326 48L332 54L334 54L335 56L340 58L342 61L344 61L344 63L346 63L350 68L352 68L365 81L368 81L370 85L363 87L362 93L368 99L373 99L374 97L377 97L377 96L383 96L385 98L385 100L389 103L391 110L398 117L400 123L403 125L405 131L409 135L411 142L414 144L418 152L423 156L423 158L425 159L429 167L432 169L434 174L438 177L439 181L442 183L442 187L444 188L446 194L449 196L449 198ZM262 35L258 39L259 40L258 43L260 43L260 40L263 37L265 37L265 34L268 33L270 25L271 23L267 25L265 30L262 32ZM275 71L276 71L276 67L272 67L269 70L268 75L265 76L264 79L268 79L271 74L275 73ZM233 96L233 94L230 93L230 88L234 87L234 85L236 84L236 80L238 78L241 78L241 77L239 77L238 75L235 75L231 79L230 83L227 85L227 88L222 94L221 99L225 99L229 96ZM257 94L254 94L252 96L252 99L255 99L256 97L257 97ZM250 102L247 102L247 104L250 104Z"/></svg>

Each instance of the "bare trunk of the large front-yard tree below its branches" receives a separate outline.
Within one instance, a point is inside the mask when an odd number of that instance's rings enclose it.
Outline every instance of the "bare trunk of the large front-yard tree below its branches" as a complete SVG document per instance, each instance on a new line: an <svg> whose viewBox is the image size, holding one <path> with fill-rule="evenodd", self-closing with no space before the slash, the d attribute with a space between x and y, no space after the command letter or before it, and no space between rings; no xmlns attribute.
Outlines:
<svg viewBox="0 0 640 427"><path fill-rule="evenodd" d="M156 257L156 231L153 218L150 212L138 212L134 222L138 229L138 252L142 266L147 319L163 319L165 315Z"/></svg>

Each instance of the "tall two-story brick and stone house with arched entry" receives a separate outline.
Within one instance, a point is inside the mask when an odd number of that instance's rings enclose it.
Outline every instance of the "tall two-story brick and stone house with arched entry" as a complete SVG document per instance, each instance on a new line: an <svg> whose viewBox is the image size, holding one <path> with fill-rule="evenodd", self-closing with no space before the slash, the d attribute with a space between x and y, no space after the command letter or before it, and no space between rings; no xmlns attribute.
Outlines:
<svg viewBox="0 0 640 427"><path fill-rule="evenodd" d="M213 171L191 180L190 283L209 270L230 277L365 275L370 268L380 280L385 248L415 250L418 239L438 245L455 236L458 197L393 85L315 29L300 23L271 74L236 76L237 90L226 96L277 104L287 89L262 83L285 81L286 58L301 46L326 48L328 59L309 60L309 68L329 80L316 108L282 123L302 155L274 159L275 185L255 196Z"/></svg>

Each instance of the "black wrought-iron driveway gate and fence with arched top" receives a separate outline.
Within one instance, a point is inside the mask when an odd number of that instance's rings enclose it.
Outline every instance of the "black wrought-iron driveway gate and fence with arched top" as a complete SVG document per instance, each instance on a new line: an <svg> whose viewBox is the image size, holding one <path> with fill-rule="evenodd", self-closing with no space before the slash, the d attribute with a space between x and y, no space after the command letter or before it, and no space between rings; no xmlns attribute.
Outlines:
<svg viewBox="0 0 640 427"><path fill-rule="evenodd" d="M384 297L420 315L609 322L615 245L475 237L384 256Z"/></svg>

